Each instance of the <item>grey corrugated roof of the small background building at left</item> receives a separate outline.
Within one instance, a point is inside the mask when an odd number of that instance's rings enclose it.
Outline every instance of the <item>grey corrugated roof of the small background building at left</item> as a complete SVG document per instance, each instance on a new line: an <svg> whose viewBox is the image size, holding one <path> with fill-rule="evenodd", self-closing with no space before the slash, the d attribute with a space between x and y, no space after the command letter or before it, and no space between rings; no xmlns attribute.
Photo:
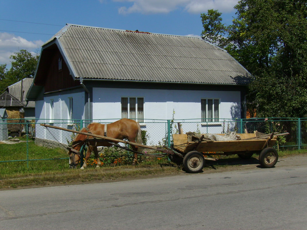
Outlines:
<svg viewBox="0 0 307 230"><path fill-rule="evenodd" d="M22 80L22 90L24 90L25 92L23 93L23 98L22 98L22 102L26 105L27 102L25 101L25 96L31 86L33 82L33 78L25 78ZM7 87L9 90L9 93L11 95L13 95L15 98L17 98L18 100L20 100L20 93L21 93L21 81L16 82L13 85L10 85ZM33 101L29 101L28 105L25 107L35 107L35 102Z"/></svg>

